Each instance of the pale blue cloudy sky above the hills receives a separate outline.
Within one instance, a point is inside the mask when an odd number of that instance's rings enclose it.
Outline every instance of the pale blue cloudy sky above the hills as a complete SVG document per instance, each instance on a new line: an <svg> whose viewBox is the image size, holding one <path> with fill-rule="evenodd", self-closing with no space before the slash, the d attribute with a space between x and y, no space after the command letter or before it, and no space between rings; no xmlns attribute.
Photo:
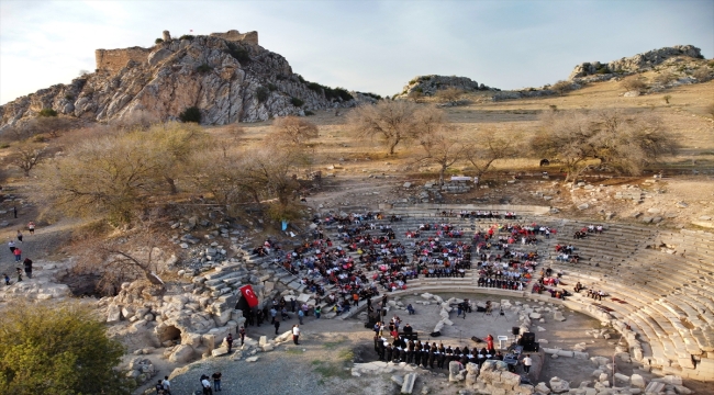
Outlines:
<svg viewBox="0 0 714 395"><path fill-rule="evenodd" d="M94 69L96 48L258 31L305 79L393 94L414 76L501 89L565 79L579 63L677 44L714 56L714 0L0 0L0 104Z"/></svg>

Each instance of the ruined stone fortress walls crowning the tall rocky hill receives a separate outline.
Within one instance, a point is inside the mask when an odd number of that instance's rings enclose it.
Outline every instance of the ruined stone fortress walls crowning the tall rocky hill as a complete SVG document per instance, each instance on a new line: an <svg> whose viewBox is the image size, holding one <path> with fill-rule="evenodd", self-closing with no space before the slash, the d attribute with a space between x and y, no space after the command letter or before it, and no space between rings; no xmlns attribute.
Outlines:
<svg viewBox="0 0 714 395"><path fill-rule="evenodd" d="M237 30L230 30L225 33L211 33L213 37L220 37L232 42L243 42L258 45L258 32L241 33ZM171 36L168 31L164 31L164 42L169 42ZM130 60L145 63L148 55L155 48L131 47L119 49L96 49L94 58L97 61L97 71L114 74L121 70Z"/></svg>

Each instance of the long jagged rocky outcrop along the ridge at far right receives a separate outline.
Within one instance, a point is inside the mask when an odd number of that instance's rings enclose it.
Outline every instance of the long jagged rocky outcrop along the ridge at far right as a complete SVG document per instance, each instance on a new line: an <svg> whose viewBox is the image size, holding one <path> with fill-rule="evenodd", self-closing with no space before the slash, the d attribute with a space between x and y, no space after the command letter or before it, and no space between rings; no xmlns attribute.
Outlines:
<svg viewBox="0 0 714 395"><path fill-rule="evenodd" d="M606 64L600 61L585 61L572 70L568 79L582 78L592 75L607 75L607 74L623 74L636 72L651 69L652 67L662 64L671 57L692 57L703 58L702 50L693 45L676 45L673 47L665 47L652 49L644 54L637 54L628 58L613 60Z"/></svg>

